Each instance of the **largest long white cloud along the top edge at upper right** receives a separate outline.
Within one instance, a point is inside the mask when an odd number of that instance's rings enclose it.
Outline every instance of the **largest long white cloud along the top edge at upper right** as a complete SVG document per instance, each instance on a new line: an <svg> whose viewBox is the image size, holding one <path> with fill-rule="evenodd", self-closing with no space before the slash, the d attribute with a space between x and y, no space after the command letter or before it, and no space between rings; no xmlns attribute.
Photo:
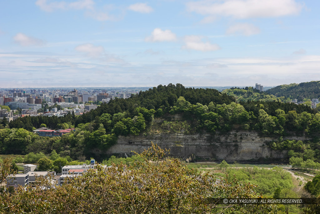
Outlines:
<svg viewBox="0 0 320 214"><path fill-rule="evenodd" d="M298 14L303 7L295 0L204 0L188 2L186 6L190 12L236 19L293 15Z"/></svg>

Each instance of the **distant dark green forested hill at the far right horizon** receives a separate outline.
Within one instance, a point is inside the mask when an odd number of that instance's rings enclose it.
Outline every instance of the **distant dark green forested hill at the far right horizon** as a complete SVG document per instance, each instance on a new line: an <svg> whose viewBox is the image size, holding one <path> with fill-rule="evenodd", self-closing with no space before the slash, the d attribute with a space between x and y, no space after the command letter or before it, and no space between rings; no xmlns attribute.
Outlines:
<svg viewBox="0 0 320 214"><path fill-rule="evenodd" d="M291 83L289 85L279 85L266 91L276 97L298 99L298 102L320 97L320 81Z"/></svg>

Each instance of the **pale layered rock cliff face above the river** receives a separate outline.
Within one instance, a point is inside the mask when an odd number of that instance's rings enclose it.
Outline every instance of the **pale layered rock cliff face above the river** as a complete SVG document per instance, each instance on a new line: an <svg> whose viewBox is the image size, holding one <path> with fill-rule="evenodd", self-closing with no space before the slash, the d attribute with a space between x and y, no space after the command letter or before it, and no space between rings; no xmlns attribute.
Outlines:
<svg viewBox="0 0 320 214"><path fill-rule="evenodd" d="M308 140L303 136L284 137L284 140ZM147 149L151 141L162 149L170 149L170 155L177 158L188 158L192 154L196 159L215 159L232 161L261 161L263 159L279 160L286 157L287 151L272 150L267 142L277 141L276 138L260 136L254 131L230 131L228 133L182 134L165 133L149 136L119 136L116 145L103 152L109 155L124 157Z"/></svg>

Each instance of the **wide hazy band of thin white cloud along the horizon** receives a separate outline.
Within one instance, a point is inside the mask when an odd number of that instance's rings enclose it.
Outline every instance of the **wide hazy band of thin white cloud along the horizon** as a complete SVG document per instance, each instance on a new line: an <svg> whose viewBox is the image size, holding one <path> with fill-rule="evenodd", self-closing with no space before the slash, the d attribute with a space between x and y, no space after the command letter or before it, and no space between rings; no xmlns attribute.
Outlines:
<svg viewBox="0 0 320 214"><path fill-rule="evenodd" d="M1 78L4 80L2 87L12 87L12 85L16 87L60 87L61 84L62 87L68 87L67 83L52 80L50 76L45 75L47 73L63 75L66 81L75 82L75 87L102 87L103 84L110 87L150 87L158 84L166 85L170 82L179 82L185 86L252 86L256 82L274 86L320 78L318 72L320 56L312 55L281 58L205 57L199 59L197 57L193 60L162 62L146 62L142 57L141 62L132 64L123 64L120 58L117 58L118 56L106 53L101 54L98 60L75 54L0 53ZM153 72L150 73L150 70ZM301 71L304 72L301 73ZM89 72L90 75L88 75ZM140 75L136 75L138 72ZM26 73L28 75L23 75ZM14 80L12 80L12 75L16 77ZM42 75L43 78L37 80L36 75ZM101 75L105 75L106 78L101 78Z"/></svg>

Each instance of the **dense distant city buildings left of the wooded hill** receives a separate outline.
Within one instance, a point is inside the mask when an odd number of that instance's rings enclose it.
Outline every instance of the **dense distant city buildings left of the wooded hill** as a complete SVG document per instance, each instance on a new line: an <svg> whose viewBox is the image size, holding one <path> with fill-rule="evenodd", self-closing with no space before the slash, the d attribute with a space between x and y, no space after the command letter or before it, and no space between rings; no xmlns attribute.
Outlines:
<svg viewBox="0 0 320 214"><path fill-rule="evenodd" d="M114 89L1 89L0 106L8 106L11 110L0 107L0 119L5 117L10 122L24 116L64 116L72 112L82 115L97 108L100 101L108 103L113 98L128 98L137 92L123 88L120 92Z"/></svg>

